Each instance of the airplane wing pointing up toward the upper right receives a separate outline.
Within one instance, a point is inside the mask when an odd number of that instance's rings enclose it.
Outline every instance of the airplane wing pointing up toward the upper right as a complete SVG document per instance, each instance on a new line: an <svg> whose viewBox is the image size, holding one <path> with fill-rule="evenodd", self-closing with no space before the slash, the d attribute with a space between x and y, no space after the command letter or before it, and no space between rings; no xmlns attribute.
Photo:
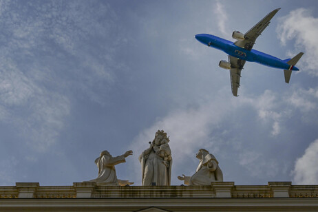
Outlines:
<svg viewBox="0 0 318 212"><path fill-rule="evenodd" d="M251 30L248 30L248 32L245 33L243 41L236 41L234 44L246 50L251 50L257 37L265 30L269 23L271 23L271 19L279 10L280 8L277 8L276 10L268 13L264 19L259 21L255 26L253 26L253 28L251 28Z"/></svg>

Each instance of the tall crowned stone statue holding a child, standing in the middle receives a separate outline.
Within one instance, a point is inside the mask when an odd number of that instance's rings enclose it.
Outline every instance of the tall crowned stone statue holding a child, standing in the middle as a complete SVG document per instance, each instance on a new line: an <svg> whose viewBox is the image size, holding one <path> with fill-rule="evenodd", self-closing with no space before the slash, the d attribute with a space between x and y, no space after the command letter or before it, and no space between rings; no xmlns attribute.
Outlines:
<svg viewBox="0 0 318 212"><path fill-rule="evenodd" d="M143 186L170 185L172 158L168 142L167 133L158 130L150 147L139 156Z"/></svg>

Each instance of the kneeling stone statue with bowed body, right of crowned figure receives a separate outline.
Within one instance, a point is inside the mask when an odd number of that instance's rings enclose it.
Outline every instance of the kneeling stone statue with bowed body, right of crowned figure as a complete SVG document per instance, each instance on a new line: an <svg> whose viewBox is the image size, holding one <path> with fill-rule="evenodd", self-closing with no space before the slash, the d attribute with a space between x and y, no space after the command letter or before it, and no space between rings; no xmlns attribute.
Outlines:
<svg viewBox="0 0 318 212"><path fill-rule="evenodd" d="M178 176L179 180L184 180L184 184L189 185L210 185L211 182L223 182L223 173L219 167L218 160L213 154L205 149L200 149L196 157L200 160L198 168L193 176Z"/></svg>

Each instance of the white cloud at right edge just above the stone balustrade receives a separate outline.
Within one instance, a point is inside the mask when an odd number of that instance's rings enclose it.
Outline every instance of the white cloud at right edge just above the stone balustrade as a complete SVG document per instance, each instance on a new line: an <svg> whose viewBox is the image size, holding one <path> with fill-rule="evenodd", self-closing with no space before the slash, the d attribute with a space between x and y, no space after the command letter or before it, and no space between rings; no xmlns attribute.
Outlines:
<svg viewBox="0 0 318 212"><path fill-rule="evenodd" d="M295 162L295 184L318 184L318 139L312 142L301 158Z"/></svg>

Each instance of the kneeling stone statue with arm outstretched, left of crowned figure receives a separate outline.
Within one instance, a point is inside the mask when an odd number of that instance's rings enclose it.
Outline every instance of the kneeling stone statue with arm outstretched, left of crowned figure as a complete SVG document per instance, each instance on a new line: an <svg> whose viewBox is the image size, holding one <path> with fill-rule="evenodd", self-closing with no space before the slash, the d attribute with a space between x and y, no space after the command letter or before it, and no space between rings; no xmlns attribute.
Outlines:
<svg viewBox="0 0 318 212"><path fill-rule="evenodd" d="M123 155L113 158L108 151L102 151L100 157L96 158L95 163L98 167L98 177L94 180L84 182L96 182L97 185L107 186L125 186L127 184L134 184L128 180L119 180L116 176L115 165L126 162L125 158L132 155L133 151L126 151Z"/></svg>

